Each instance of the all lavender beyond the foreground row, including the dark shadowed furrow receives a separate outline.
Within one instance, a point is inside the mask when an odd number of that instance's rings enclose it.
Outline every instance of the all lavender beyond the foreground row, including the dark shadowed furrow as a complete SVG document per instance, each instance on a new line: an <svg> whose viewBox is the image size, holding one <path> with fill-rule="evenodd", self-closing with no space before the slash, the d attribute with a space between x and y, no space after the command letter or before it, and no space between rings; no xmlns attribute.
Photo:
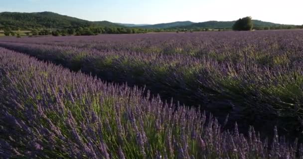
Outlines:
<svg viewBox="0 0 303 159"><path fill-rule="evenodd" d="M254 125L269 133L278 125L281 132L299 136L303 130L302 34L41 37L2 39L0 46L108 81L146 85L163 99L173 97L186 105L202 105L220 121L229 113L228 126L242 121L241 132Z"/></svg>

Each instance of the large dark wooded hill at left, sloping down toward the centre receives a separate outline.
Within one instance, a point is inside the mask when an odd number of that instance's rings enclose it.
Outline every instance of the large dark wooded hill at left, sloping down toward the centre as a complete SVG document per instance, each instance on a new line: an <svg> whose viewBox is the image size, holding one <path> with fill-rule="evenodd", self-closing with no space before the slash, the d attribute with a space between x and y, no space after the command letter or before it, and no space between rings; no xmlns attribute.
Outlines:
<svg viewBox="0 0 303 159"><path fill-rule="evenodd" d="M0 27L10 27L11 29L31 29L31 28L67 28L67 27L88 27L88 26L121 26L109 21L88 21L75 17L57 14L54 12L1 12Z"/></svg>

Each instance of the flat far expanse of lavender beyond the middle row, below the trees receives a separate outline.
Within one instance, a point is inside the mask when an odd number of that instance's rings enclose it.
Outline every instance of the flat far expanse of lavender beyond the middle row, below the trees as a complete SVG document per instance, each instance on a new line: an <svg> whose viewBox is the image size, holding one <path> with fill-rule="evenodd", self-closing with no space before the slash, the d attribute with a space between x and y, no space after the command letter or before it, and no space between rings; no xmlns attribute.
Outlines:
<svg viewBox="0 0 303 159"><path fill-rule="evenodd" d="M303 31L203 32L88 37L5 38L1 41L94 48L149 54L183 54L218 61L253 61L261 65L302 60Z"/></svg>

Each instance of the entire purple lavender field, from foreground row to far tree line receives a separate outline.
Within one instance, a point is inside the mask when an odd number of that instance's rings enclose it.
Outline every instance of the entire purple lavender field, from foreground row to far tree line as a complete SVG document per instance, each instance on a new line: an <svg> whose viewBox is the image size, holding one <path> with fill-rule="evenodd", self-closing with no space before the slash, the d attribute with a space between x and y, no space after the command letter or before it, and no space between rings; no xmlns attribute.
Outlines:
<svg viewBox="0 0 303 159"><path fill-rule="evenodd" d="M302 156L302 30L5 37L0 47L4 158Z"/></svg>

